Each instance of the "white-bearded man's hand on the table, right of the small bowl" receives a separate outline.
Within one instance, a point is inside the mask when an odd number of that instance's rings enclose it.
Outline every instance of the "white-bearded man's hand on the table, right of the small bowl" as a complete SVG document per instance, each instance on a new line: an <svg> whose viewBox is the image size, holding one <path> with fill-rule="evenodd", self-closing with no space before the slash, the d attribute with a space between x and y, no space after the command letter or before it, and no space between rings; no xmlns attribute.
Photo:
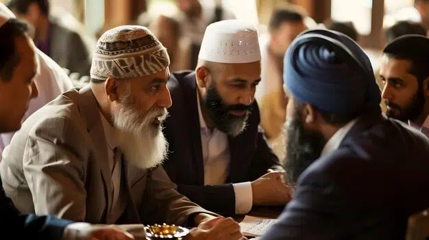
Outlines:
<svg viewBox="0 0 429 240"><path fill-rule="evenodd" d="M189 231L186 240L245 240L240 226L231 217L215 217Z"/></svg>

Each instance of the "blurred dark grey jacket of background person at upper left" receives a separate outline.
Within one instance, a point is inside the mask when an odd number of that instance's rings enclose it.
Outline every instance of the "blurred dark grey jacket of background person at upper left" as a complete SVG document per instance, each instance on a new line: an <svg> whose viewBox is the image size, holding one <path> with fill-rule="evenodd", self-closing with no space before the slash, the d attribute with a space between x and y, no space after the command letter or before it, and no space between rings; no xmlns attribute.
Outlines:
<svg viewBox="0 0 429 240"><path fill-rule="evenodd" d="M70 72L79 72L80 77L89 76L91 68L91 55L77 32L62 27L56 21L51 21L51 57L62 68Z"/></svg>

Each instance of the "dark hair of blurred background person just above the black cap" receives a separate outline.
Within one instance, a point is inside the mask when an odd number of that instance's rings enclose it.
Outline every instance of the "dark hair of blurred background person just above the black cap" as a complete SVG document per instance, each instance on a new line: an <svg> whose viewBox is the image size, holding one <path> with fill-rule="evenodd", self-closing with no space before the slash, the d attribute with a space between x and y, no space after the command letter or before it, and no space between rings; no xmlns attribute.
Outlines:
<svg viewBox="0 0 429 240"><path fill-rule="evenodd" d="M391 27L387 28L384 32L387 43L393 42L393 40L399 38L400 36L409 34L426 36L426 28L420 23L415 23L412 21L398 21Z"/></svg>

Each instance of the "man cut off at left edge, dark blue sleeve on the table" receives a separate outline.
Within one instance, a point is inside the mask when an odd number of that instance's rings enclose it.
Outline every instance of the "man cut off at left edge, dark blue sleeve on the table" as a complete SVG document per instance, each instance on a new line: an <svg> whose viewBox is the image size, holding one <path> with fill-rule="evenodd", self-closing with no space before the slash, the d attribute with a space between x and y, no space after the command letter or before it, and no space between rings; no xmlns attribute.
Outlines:
<svg viewBox="0 0 429 240"><path fill-rule="evenodd" d="M29 99L38 95L33 77L37 62L26 26L0 12L0 132L21 127ZM73 223L51 216L21 214L5 196L0 179L0 232L16 239L132 239L108 226Z"/></svg>

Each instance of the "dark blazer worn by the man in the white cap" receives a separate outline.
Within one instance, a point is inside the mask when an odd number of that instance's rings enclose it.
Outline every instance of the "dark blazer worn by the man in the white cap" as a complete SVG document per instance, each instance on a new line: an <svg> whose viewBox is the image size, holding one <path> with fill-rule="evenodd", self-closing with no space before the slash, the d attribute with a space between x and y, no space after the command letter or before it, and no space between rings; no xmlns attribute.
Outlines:
<svg viewBox="0 0 429 240"><path fill-rule="evenodd" d="M254 181L269 168L282 169L258 127L260 119L256 101L245 131L228 138L230 174L227 184L204 186L195 72L172 72L168 88L173 105L169 108L170 116L164 129L169 142L169 157L164 169L177 184L178 191L191 201L222 215L234 214L232 183Z"/></svg>

